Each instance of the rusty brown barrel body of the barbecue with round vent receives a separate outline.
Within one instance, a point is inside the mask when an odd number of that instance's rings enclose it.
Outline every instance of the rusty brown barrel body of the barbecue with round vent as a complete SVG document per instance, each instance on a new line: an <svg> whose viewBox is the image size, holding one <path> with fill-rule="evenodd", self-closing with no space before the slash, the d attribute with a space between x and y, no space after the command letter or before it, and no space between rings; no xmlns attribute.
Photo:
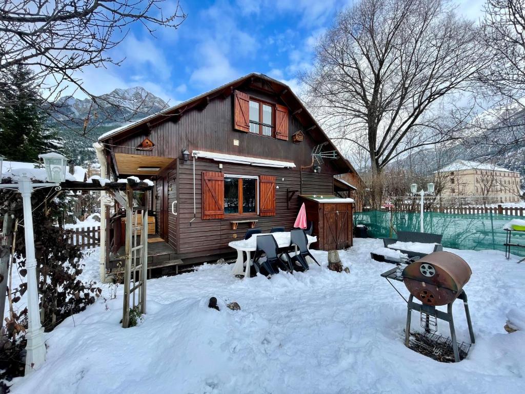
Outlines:
<svg viewBox="0 0 525 394"><path fill-rule="evenodd" d="M472 271L463 258L450 252L434 252L407 265L403 279L408 291L426 305L453 302Z"/></svg>

